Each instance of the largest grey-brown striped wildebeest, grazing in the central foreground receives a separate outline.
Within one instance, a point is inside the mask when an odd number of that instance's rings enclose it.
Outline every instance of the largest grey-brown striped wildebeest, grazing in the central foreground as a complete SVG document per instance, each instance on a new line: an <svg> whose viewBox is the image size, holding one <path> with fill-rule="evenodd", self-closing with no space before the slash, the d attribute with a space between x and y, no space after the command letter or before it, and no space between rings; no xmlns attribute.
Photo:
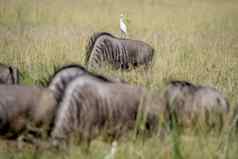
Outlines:
<svg viewBox="0 0 238 159"><path fill-rule="evenodd" d="M99 135L117 139L135 128L140 118L148 130L143 132L154 132L164 108L158 97L157 103L151 103L152 98L138 86L108 82L92 74L80 76L68 85L59 105L51 134L53 143L67 143L72 136L86 145Z"/></svg>

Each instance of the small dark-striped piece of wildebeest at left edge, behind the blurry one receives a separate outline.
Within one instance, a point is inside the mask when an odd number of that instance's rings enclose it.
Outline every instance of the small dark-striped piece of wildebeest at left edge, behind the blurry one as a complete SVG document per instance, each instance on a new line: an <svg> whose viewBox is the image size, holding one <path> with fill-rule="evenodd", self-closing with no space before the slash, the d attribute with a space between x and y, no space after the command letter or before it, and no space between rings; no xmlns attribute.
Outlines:
<svg viewBox="0 0 238 159"><path fill-rule="evenodd" d="M0 63L0 84L19 84L18 69Z"/></svg>

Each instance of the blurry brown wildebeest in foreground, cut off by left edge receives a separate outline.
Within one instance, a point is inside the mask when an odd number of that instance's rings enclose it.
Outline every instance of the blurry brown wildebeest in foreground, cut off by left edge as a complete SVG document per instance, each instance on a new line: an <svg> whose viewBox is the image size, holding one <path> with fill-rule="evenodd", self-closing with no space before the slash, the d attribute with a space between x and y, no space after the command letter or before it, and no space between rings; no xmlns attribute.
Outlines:
<svg viewBox="0 0 238 159"><path fill-rule="evenodd" d="M55 97L47 88L0 85L0 134L15 138L28 130L47 132L55 108Z"/></svg>

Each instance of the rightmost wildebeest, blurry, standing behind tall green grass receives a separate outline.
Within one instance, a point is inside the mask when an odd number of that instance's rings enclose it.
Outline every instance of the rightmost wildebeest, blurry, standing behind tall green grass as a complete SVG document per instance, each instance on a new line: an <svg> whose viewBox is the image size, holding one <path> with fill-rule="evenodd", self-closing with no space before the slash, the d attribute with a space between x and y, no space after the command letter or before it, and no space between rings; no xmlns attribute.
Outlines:
<svg viewBox="0 0 238 159"><path fill-rule="evenodd" d="M186 81L171 81L165 98L171 119L183 126L221 127L229 111L227 99L216 89Z"/></svg>

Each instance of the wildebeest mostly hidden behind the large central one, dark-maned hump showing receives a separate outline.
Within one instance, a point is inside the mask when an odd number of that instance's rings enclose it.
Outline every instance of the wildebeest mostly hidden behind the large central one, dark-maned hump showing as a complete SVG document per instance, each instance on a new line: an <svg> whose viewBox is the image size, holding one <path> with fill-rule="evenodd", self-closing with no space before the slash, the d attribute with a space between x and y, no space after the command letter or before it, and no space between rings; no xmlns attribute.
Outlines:
<svg viewBox="0 0 238 159"><path fill-rule="evenodd" d="M59 68L55 68L55 73L48 80L48 88L54 92L57 102L59 103L64 96L65 90L68 84L78 76L83 75L93 75L104 79L108 82L122 82L126 83L124 80L115 77L104 77L101 75L96 75L88 70L86 70L83 66L78 64L68 64L61 66Z"/></svg>

